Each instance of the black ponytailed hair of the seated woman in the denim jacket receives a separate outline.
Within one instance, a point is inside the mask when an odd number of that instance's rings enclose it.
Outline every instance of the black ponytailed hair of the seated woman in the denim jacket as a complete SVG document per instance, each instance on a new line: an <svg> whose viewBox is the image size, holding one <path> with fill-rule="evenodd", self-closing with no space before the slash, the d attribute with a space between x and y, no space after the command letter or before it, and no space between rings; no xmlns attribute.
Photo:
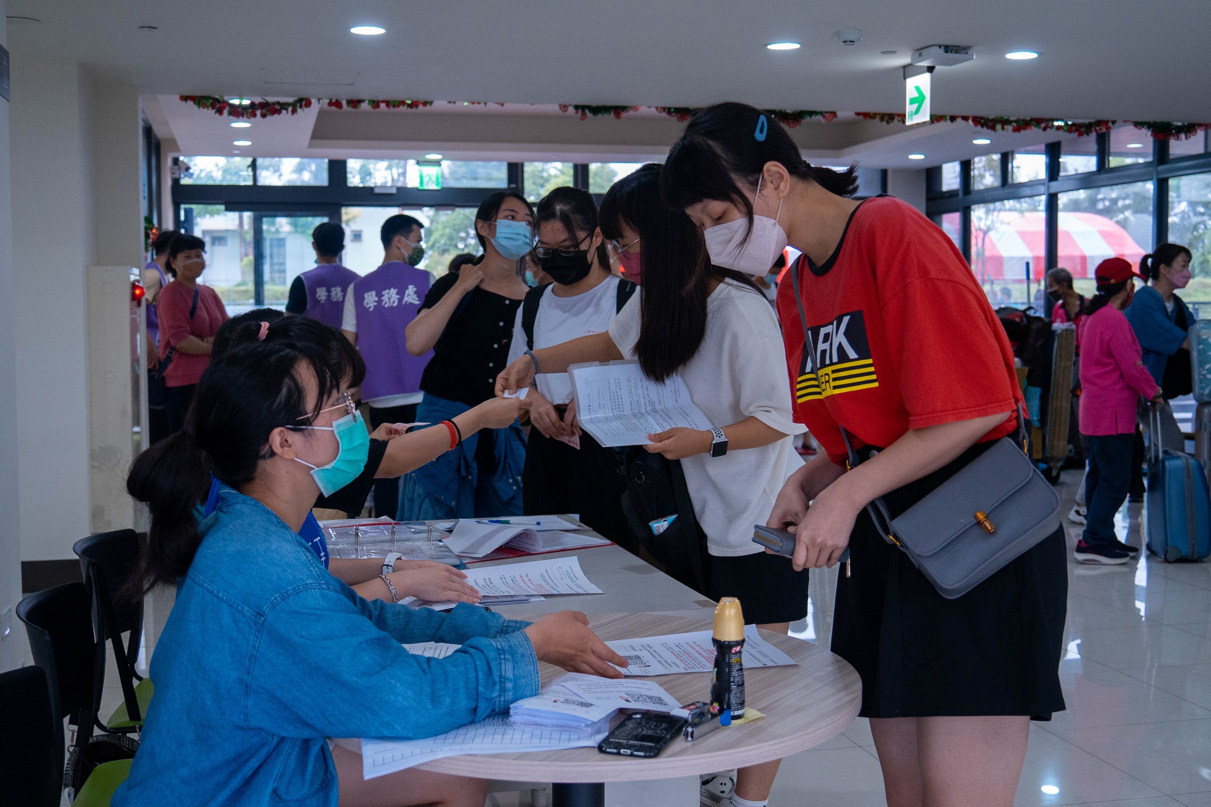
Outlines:
<svg viewBox="0 0 1211 807"><path fill-rule="evenodd" d="M265 340L259 334L257 322L236 332L229 352L202 374L184 431L143 451L131 467L126 490L147 502L151 525L128 596L176 583L189 571L200 543L196 507L211 473L239 490L257 475L270 432L311 423L323 402L365 375L361 357L344 350L345 338L323 323L287 317L269 325ZM316 379L312 402L300 373Z"/></svg>

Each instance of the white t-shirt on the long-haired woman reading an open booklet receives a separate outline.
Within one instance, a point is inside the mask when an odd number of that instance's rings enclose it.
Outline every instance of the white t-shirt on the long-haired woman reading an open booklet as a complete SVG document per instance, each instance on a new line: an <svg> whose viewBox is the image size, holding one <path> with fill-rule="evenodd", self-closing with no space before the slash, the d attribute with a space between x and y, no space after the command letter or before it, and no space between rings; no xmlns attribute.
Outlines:
<svg viewBox="0 0 1211 807"><path fill-rule="evenodd" d="M609 324L609 335L626 358L639 339L639 292ZM782 332L764 295L724 281L706 301L706 334L681 376L689 397L707 420L730 426L750 415L784 434L807 428L791 417ZM685 457L682 471L694 515L706 532L712 555L735 558L762 551L752 542L753 525L764 524L774 498L803 460L785 437L757 449L722 457Z"/></svg>

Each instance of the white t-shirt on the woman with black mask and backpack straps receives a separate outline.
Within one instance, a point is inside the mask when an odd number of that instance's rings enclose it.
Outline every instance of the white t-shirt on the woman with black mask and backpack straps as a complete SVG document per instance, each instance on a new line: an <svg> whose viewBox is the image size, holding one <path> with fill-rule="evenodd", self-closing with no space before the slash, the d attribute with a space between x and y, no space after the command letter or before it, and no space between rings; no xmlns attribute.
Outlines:
<svg viewBox="0 0 1211 807"><path fill-rule="evenodd" d="M534 350L604 333L609 321L618 312L618 277L610 275L604 281L576 296L556 296L555 287L543 293L534 317ZM637 295L632 295L632 299ZM522 330L522 310L518 306L513 321L513 340L509 345L509 363L526 353L526 332ZM572 381L567 373L543 373L538 376L538 391L553 404L572 400Z"/></svg>

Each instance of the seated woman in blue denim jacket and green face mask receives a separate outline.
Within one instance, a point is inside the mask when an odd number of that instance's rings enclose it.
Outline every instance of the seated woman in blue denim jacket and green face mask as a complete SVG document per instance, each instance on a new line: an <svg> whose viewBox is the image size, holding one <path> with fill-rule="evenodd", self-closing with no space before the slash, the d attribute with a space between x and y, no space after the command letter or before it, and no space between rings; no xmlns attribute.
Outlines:
<svg viewBox="0 0 1211 807"><path fill-rule="evenodd" d="M618 678L626 661L564 611L533 624L471 605L450 613L367 601L298 529L321 469L360 467L346 390L365 373L306 342L257 342L211 364L185 430L136 461L151 525L133 590L177 583L151 659L156 694L113 803L480 807L482 782L411 768L365 782L327 737L421 738L538 693L538 661ZM203 453L223 483L200 526ZM463 645L425 658L401 642Z"/></svg>

